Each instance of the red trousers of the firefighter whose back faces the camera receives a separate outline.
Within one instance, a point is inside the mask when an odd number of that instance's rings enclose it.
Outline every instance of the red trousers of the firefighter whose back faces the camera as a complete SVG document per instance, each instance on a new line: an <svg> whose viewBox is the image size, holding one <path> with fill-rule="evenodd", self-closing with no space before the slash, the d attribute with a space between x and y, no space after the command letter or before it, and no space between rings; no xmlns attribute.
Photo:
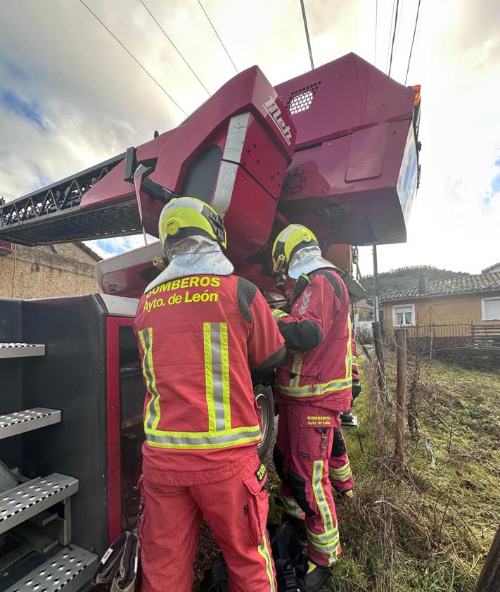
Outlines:
<svg viewBox="0 0 500 592"><path fill-rule="evenodd" d="M229 590L276 592L266 532L267 474L257 452L229 479L193 486L158 480L146 471L141 482L141 592L191 592L202 518L226 560Z"/></svg>

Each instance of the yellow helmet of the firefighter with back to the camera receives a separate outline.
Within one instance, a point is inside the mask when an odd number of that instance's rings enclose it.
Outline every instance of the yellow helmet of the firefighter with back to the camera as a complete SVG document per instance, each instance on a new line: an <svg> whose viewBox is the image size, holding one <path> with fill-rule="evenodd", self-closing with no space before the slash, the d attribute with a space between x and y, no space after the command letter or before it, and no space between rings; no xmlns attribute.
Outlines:
<svg viewBox="0 0 500 592"><path fill-rule="evenodd" d="M195 197L174 197L162 209L158 232L163 250L181 239L205 236L226 248L226 229L217 212Z"/></svg>

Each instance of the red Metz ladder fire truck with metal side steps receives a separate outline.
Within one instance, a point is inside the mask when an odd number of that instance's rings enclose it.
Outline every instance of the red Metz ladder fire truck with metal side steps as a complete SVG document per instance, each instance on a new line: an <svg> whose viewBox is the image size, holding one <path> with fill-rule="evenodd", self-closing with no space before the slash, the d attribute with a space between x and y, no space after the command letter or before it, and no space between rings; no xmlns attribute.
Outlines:
<svg viewBox="0 0 500 592"><path fill-rule="evenodd" d="M419 87L353 53L276 87L254 66L179 127L1 205L0 239L158 236L165 203L195 196L224 218L236 273L264 293L271 245L292 222L348 274L348 245L406 240L419 118ZM132 323L162 255L157 241L103 260L100 294L0 301L1 590L86 589L133 524L144 386ZM272 393L255 394L265 451Z"/></svg>

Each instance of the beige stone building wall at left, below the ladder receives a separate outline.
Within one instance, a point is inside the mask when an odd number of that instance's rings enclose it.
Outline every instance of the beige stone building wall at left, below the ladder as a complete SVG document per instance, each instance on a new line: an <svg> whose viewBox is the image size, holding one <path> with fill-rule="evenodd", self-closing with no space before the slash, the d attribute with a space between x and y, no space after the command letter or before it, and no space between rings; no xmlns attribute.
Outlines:
<svg viewBox="0 0 500 592"><path fill-rule="evenodd" d="M0 298L49 298L98 291L98 257L78 244L12 245L0 256Z"/></svg>

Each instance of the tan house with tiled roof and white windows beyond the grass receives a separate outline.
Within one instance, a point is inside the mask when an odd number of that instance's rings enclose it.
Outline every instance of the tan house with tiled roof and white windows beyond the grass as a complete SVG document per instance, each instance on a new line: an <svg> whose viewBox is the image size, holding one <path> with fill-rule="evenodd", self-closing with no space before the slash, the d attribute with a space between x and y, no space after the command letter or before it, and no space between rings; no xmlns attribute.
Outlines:
<svg viewBox="0 0 500 592"><path fill-rule="evenodd" d="M416 282L417 283L417 282ZM447 323L500 324L500 272L454 275L380 296L385 330Z"/></svg>

